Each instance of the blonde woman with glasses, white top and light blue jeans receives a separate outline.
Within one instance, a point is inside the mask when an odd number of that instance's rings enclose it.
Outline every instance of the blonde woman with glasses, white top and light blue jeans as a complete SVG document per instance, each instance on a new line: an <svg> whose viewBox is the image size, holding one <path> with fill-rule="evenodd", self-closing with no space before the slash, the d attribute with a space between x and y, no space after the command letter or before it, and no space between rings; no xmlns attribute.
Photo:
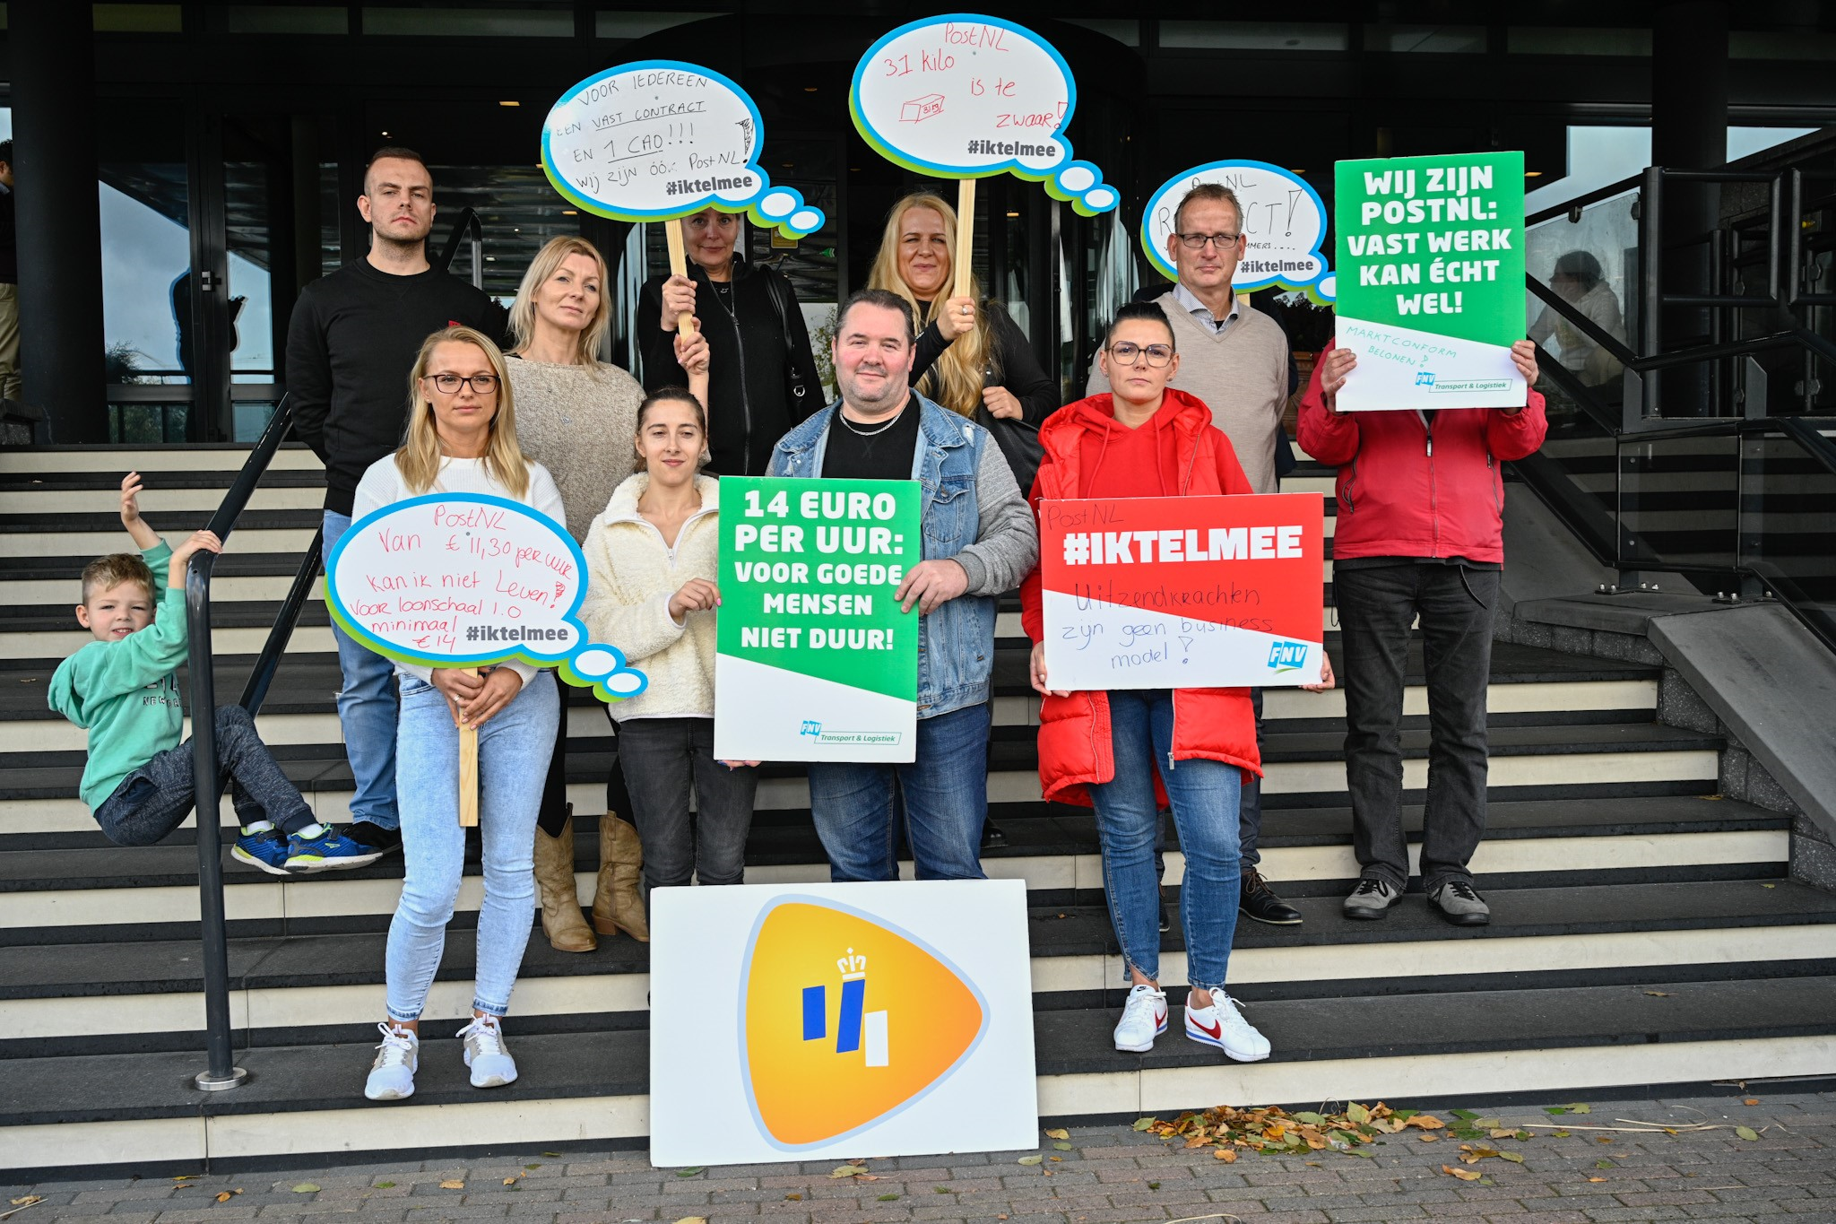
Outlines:
<svg viewBox="0 0 1836 1224"><path fill-rule="evenodd" d="M547 468L516 440L509 373L498 347L470 327L420 345L409 374L408 440L356 486L353 517L422 494L494 494L565 521ZM523 662L465 668L395 666L402 684L397 793L402 809L402 899L389 921L387 1018L364 1085L371 1101L415 1092L420 1011L446 951L446 923L465 870L459 828L459 729L477 729L485 903L477 912L472 1022L459 1029L474 1088L516 1079L503 1015L529 945L536 907L531 846L542 776L554 747L554 677Z"/></svg>

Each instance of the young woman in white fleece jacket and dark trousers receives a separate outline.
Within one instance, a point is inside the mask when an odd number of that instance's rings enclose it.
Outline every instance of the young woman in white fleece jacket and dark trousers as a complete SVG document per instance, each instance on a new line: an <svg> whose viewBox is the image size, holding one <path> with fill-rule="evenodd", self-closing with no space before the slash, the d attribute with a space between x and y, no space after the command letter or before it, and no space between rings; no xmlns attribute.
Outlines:
<svg viewBox="0 0 1836 1224"><path fill-rule="evenodd" d="M632 815L644 844L644 905L652 888L700 877L745 879L756 762L714 760L714 585L720 562L720 483L707 461L707 413L679 389L637 409L637 473L611 494L586 534L593 640L617 642L650 677L611 705ZM694 785L696 815L688 813Z"/></svg>

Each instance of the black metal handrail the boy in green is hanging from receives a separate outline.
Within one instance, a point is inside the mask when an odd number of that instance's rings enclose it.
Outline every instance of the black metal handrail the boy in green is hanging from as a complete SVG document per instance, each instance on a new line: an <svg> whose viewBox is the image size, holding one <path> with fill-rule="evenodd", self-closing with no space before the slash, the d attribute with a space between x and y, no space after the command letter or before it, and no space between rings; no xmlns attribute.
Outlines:
<svg viewBox="0 0 1836 1224"><path fill-rule="evenodd" d="M274 462L274 451L279 450L292 424L292 406L286 396L281 396L261 440L255 442L255 450L250 451L222 505L211 516L209 530L218 540L228 543L237 519L242 517L242 510L248 506L248 499L255 494L255 484L268 472L268 464ZM308 558L316 563L318 547L312 549ZM207 1068L193 1077L193 1083L207 1092L235 1088L248 1079L248 1072L235 1064L230 1042L230 938L224 927L222 815L218 813L222 804L222 771L217 763L217 677L213 673L215 651L211 648L211 571L215 565L215 552L195 552L191 563L185 567L185 633L191 650L191 785L198 806L198 921L204 943L204 1029L209 1061ZM297 591L301 584L296 580L294 585ZM305 587L310 591L312 582L308 580ZM292 596L288 598L292 600ZM283 617L275 622L275 633L281 631L283 624L286 626L286 633L292 633L292 620L297 617L299 607L296 604L292 617ZM274 635L270 635L268 644L274 648ZM281 644L285 648L285 635ZM272 653L274 661L277 661L279 650ZM264 650L263 659L268 661L268 657L270 651ZM257 684L252 675L250 690L244 692L244 703L253 695L259 705L261 695L266 694L266 679Z"/></svg>

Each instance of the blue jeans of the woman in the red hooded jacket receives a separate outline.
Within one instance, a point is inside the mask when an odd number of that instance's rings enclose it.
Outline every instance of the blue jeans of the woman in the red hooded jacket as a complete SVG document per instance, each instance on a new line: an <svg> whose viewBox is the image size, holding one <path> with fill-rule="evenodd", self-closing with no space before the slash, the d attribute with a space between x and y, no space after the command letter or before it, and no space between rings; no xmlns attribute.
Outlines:
<svg viewBox="0 0 1836 1224"><path fill-rule="evenodd" d="M1173 694L1114 690L1109 694L1109 736L1116 762L1111 782L1092 782L1096 831L1103 842L1103 894L1116 943L1131 969L1160 978L1159 886L1153 873L1153 774L1160 773L1186 883L1179 890L1179 923L1186 932L1186 982L1204 991L1225 987L1230 940L1237 930L1237 802L1243 773L1236 765L1184 760L1168 765L1173 749Z"/></svg>

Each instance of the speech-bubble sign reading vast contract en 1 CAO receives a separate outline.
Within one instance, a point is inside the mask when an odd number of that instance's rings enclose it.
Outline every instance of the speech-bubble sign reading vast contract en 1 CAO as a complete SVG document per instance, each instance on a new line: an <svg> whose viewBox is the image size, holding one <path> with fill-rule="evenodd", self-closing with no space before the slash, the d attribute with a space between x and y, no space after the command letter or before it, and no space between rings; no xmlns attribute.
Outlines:
<svg viewBox="0 0 1836 1224"><path fill-rule="evenodd" d="M619 64L578 83L542 128L542 169L567 200L617 220L742 209L800 239L823 209L773 187L758 106L727 77L679 61Z"/></svg>

